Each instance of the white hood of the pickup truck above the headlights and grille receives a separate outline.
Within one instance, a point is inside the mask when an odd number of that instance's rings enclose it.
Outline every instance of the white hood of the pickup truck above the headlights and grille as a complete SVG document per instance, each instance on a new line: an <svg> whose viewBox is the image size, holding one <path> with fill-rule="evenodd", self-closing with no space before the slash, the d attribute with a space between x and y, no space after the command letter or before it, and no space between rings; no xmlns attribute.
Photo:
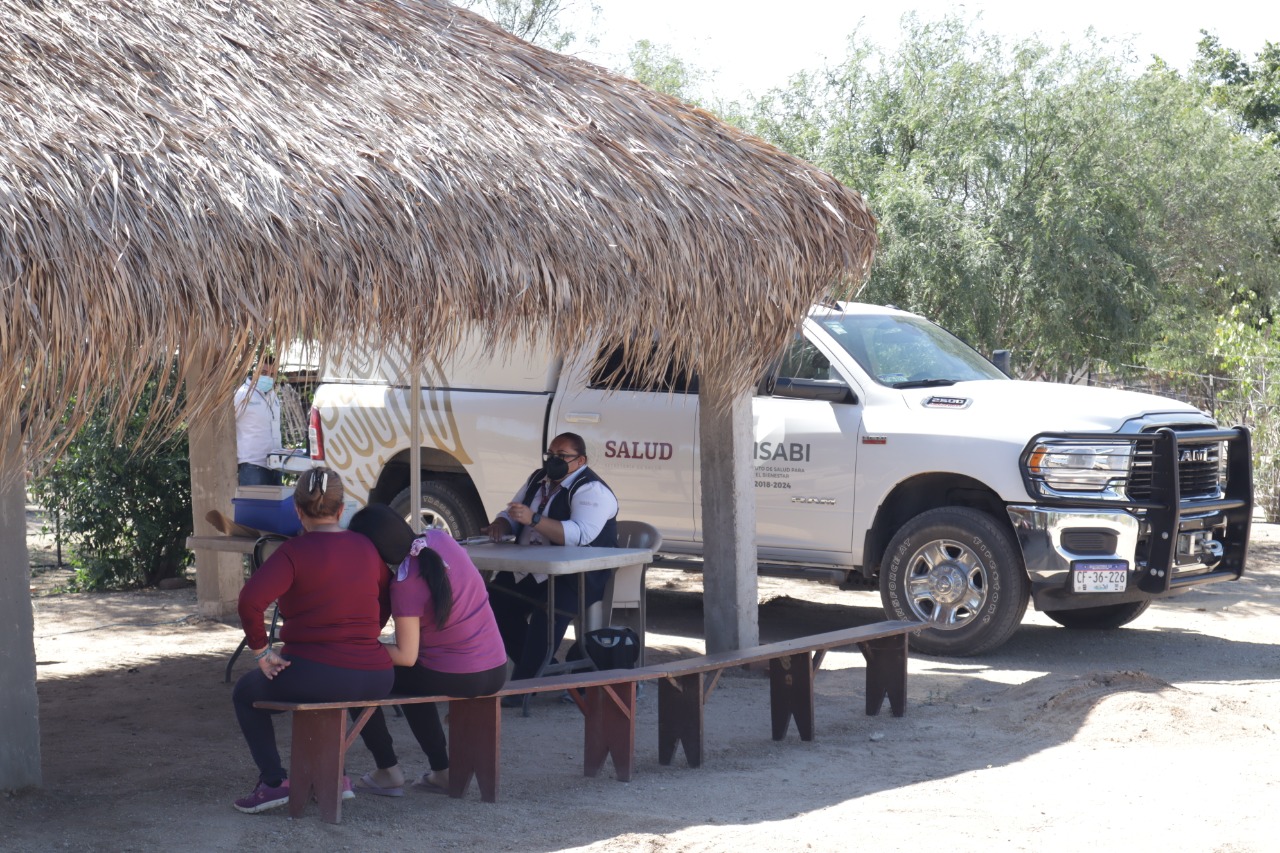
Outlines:
<svg viewBox="0 0 1280 853"><path fill-rule="evenodd" d="M1115 433L1138 420L1208 423L1194 406L1167 397L1053 382L961 382L897 393L909 409L950 421L936 423L938 429L1020 441L1043 432Z"/></svg>

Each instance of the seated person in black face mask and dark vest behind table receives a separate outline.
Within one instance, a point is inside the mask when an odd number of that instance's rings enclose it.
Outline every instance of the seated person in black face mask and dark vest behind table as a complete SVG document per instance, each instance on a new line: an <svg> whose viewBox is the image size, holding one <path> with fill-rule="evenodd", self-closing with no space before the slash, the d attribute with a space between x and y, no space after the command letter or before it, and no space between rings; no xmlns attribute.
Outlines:
<svg viewBox="0 0 1280 853"><path fill-rule="evenodd" d="M544 462L525 482L507 508L484 528L498 540L516 535L521 544L618 547L618 500L608 484L588 467L586 443L577 433L561 433L544 453ZM545 578L499 573L489 584L489 603L498 620L507 654L516 662L512 679L532 678L547 657ZM600 601L609 570L581 575L586 605ZM577 575L556 580L556 639L559 648L570 619L577 612ZM513 697L512 697L513 698Z"/></svg>

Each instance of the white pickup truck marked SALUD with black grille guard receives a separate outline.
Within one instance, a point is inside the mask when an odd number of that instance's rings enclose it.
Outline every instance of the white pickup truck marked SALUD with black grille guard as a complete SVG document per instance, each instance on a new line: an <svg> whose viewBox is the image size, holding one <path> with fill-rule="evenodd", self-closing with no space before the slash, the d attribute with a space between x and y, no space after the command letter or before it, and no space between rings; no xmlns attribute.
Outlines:
<svg viewBox="0 0 1280 853"><path fill-rule="evenodd" d="M620 517L696 557L696 378L645 384L620 365L475 341L433 362L420 378L424 523L476 534L550 437L575 432ZM406 516L407 373L387 353L325 370L310 435L357 503ZM1068 628L1116 628L1244 570L1247 429L1162 397L1011 380L914 314L814 306L762 378L753 420L759 570L878 587L890 616L928 622L920 652L989 651L1028 599Z"/></svg>

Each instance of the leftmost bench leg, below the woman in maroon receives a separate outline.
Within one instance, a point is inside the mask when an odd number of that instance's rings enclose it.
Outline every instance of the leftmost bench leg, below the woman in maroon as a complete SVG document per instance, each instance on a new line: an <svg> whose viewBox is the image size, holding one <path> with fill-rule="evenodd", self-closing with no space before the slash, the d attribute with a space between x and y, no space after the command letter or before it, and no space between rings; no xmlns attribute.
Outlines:
<svg viewBox="0 0 1280 853"><path fill-rule="evenodd" d="M289 817L302 817L312 794L320 820L342 820L342 756L346 752L346 713L342 710L294 711L289 753Z"/></svg>

